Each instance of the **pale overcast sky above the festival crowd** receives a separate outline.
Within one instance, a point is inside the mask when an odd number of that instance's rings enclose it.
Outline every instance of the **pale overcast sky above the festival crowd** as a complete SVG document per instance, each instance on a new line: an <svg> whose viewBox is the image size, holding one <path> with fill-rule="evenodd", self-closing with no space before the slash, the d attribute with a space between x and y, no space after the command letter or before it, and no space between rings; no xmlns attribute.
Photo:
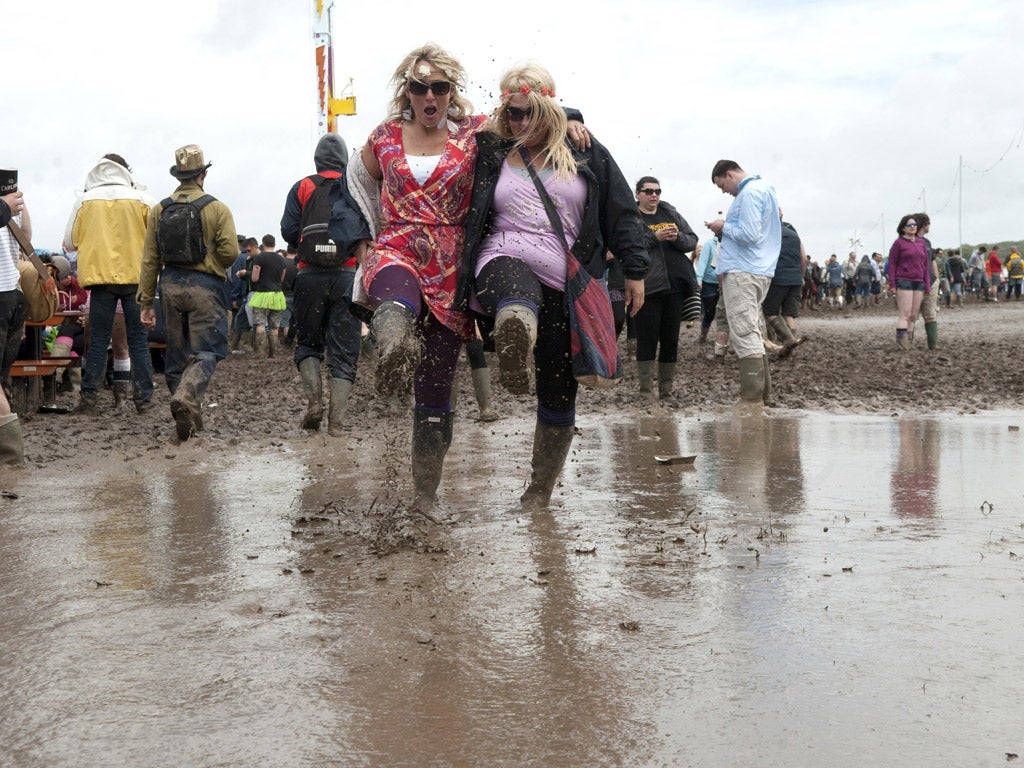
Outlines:
<svg viewBox="0 0 1024 768"><path fill-rule="evenodd" d="M57 250L103 154L161 199L174 148L199 143L207 190L240 232L280 237L285 196L311 173L312 0L0 0L6 110L37 248ZM464 8L459 10L458 7ZM487 6L497 8L499 6ZM1024 4L339 0L335 82L354 80L349 148L384 116L388 79L424 42L447 48L489 112L502 72L536 60L583 110L632 185L660 180L703 240L728 206L710 172L737 161L775 185L812 257L887 251L926 210L935 245L1024 240ZM963 160L962 160L963 159ZM961 183L961 176L963 183Z"/></svg>

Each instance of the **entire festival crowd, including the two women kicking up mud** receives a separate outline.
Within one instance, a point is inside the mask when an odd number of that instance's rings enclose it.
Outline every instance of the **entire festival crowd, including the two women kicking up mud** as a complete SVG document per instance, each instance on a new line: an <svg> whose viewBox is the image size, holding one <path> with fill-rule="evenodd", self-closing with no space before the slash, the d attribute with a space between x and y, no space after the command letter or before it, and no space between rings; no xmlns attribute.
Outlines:
<svg viewBox="0 0 1024 768"><path fill-rule="evenodd" d="M318 142L315 173L285 196L285 249L272 234L237 232L228 206L204 189L212 163L196 144L175 152L169 172L177 186L162 201L135 183L122 156L97 162L63 242L77 278L61 280L87 292L87 322L56 334L62 344L79 337L78 413L98 413L109 350L115 404L152 408L157 341L166 345L171 418L185 441L203 430L218 361L247 342L267 356L285 344L302 382L301 427L319 430L326 411L328 434L339 436L371 347L377 394L392 403L412 395L413 506L430 516L453 440L453 382L464 347L481 418L496 418L486 348L507 390L536 392L521 502L543 508L572 441L585 380L573 367L578 333L565 306L578 268L606 281L609 336L627 330L641 397L653 396L655 383L659 397L673 396L686 319L699 318L699 341L714 341L712 354L735 352L740 401L767 403L766 344L792 353L802 341L801 309L866 307L894 296L897 343L905 346L919 313L931 342L940 294L947 305L971 293L1020 298L1024 261L1016 249L1006 262L995 254L983 265L933 252L924 213L901 219L888 258L851 253L842 264L833 255L819 265L783 220L771 184L729 160L715 164L711 181L734 201L703 222L710 233L698 244L657 178L630 185L538 65L504 75L489 115L474 114L465 71L436 45L403 57L391 84L388 113L365 144L349 155L337 134ZM2 198L0 216L31 225L19 193ZM0 232L7 283L17 260L8 241ZM18 323L16 297L4 288L0 332ZM5 353L5 379L12 359ZM16 416L0 398L0 450L17 461L20 436L10 424Z"/></svg>

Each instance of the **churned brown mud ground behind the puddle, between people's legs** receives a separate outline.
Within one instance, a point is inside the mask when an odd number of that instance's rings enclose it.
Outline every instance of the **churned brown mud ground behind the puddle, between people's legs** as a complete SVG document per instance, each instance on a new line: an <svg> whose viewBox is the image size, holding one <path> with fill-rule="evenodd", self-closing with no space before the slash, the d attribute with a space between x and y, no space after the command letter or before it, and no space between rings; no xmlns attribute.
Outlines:
<svg viewBox="0 0 1024 768"><path fill-rule="evenodd" d="M1021 381L1021 342L1024 302L976 304L943 310L939 315L940 348L929 351L924 324L919 322L914 348L904 352L895 344L892 304L863 310L807 311L799 332L808 341L788 359L772 362L772 403L779 409L860 414L971 414L1017 408L1024 398ZM708 347L696 344L695 327L681 333L676 397L671 403L644 402L637 393L635 369L627 364L626 378L614 389L581 390L581 416L617 417L675 413L680 416L728 412L738 397L734 356L709 359ZM624 332L625 339L625 332ZM625 345L625 341L623 342ZM372 360L360 361L360 372L349 409L351 440L374 433L408 435L408 410L383 408L373 392ZM496 369L497 371L497 369ZM509 416L529 417L536 403L504 392L495 375L495 401ZM460 422L473 423L476 403L463 360L457 381ZM75 415L25 417L26 455L31 466L66 467L99 460L166 461L175 454L169 395L158 377L161 402L138 416L132 409L100 418ZM110 392L101 403L113 402ZM304 413L298 373L286 354L257 360L252 353L231 355L221 362L207 393L206 432L198 441L204 452L233 449L258 451L282 440L307 441L299 429ZM490 428L499 429L501 422ZM351 441L350 440L350 441Z"/></svg>

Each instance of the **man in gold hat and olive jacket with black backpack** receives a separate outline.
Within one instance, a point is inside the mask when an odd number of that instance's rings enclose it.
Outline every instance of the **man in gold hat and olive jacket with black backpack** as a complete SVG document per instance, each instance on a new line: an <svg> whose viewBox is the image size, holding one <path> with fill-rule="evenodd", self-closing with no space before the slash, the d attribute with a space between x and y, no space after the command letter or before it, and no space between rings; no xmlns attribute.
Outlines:
<svg viewBox="0 0 1024 768"><path fill-rule="evenodd" d="M207 169L197 144L174 153L171 175L180 183L154 206L145 230L138 303L153 329L160 280L167 351L164 377L179 440L203 428L201 404L217 361L227 355L225 270L239 255L231 212L203 190Z"/></svg>

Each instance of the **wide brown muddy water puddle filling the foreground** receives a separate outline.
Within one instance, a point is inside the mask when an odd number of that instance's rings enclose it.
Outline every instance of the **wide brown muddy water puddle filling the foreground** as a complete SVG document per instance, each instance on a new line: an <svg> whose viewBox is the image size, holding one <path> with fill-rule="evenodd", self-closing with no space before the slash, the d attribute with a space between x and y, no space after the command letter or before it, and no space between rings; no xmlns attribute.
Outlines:
<svg viewBox="0 0 1024 768"><path fill-rule="evenodd" d="M1020 421L583 417L535 515L460 421L440 526L400 432L4 476L0 764L1006 764Z"/></svg>

